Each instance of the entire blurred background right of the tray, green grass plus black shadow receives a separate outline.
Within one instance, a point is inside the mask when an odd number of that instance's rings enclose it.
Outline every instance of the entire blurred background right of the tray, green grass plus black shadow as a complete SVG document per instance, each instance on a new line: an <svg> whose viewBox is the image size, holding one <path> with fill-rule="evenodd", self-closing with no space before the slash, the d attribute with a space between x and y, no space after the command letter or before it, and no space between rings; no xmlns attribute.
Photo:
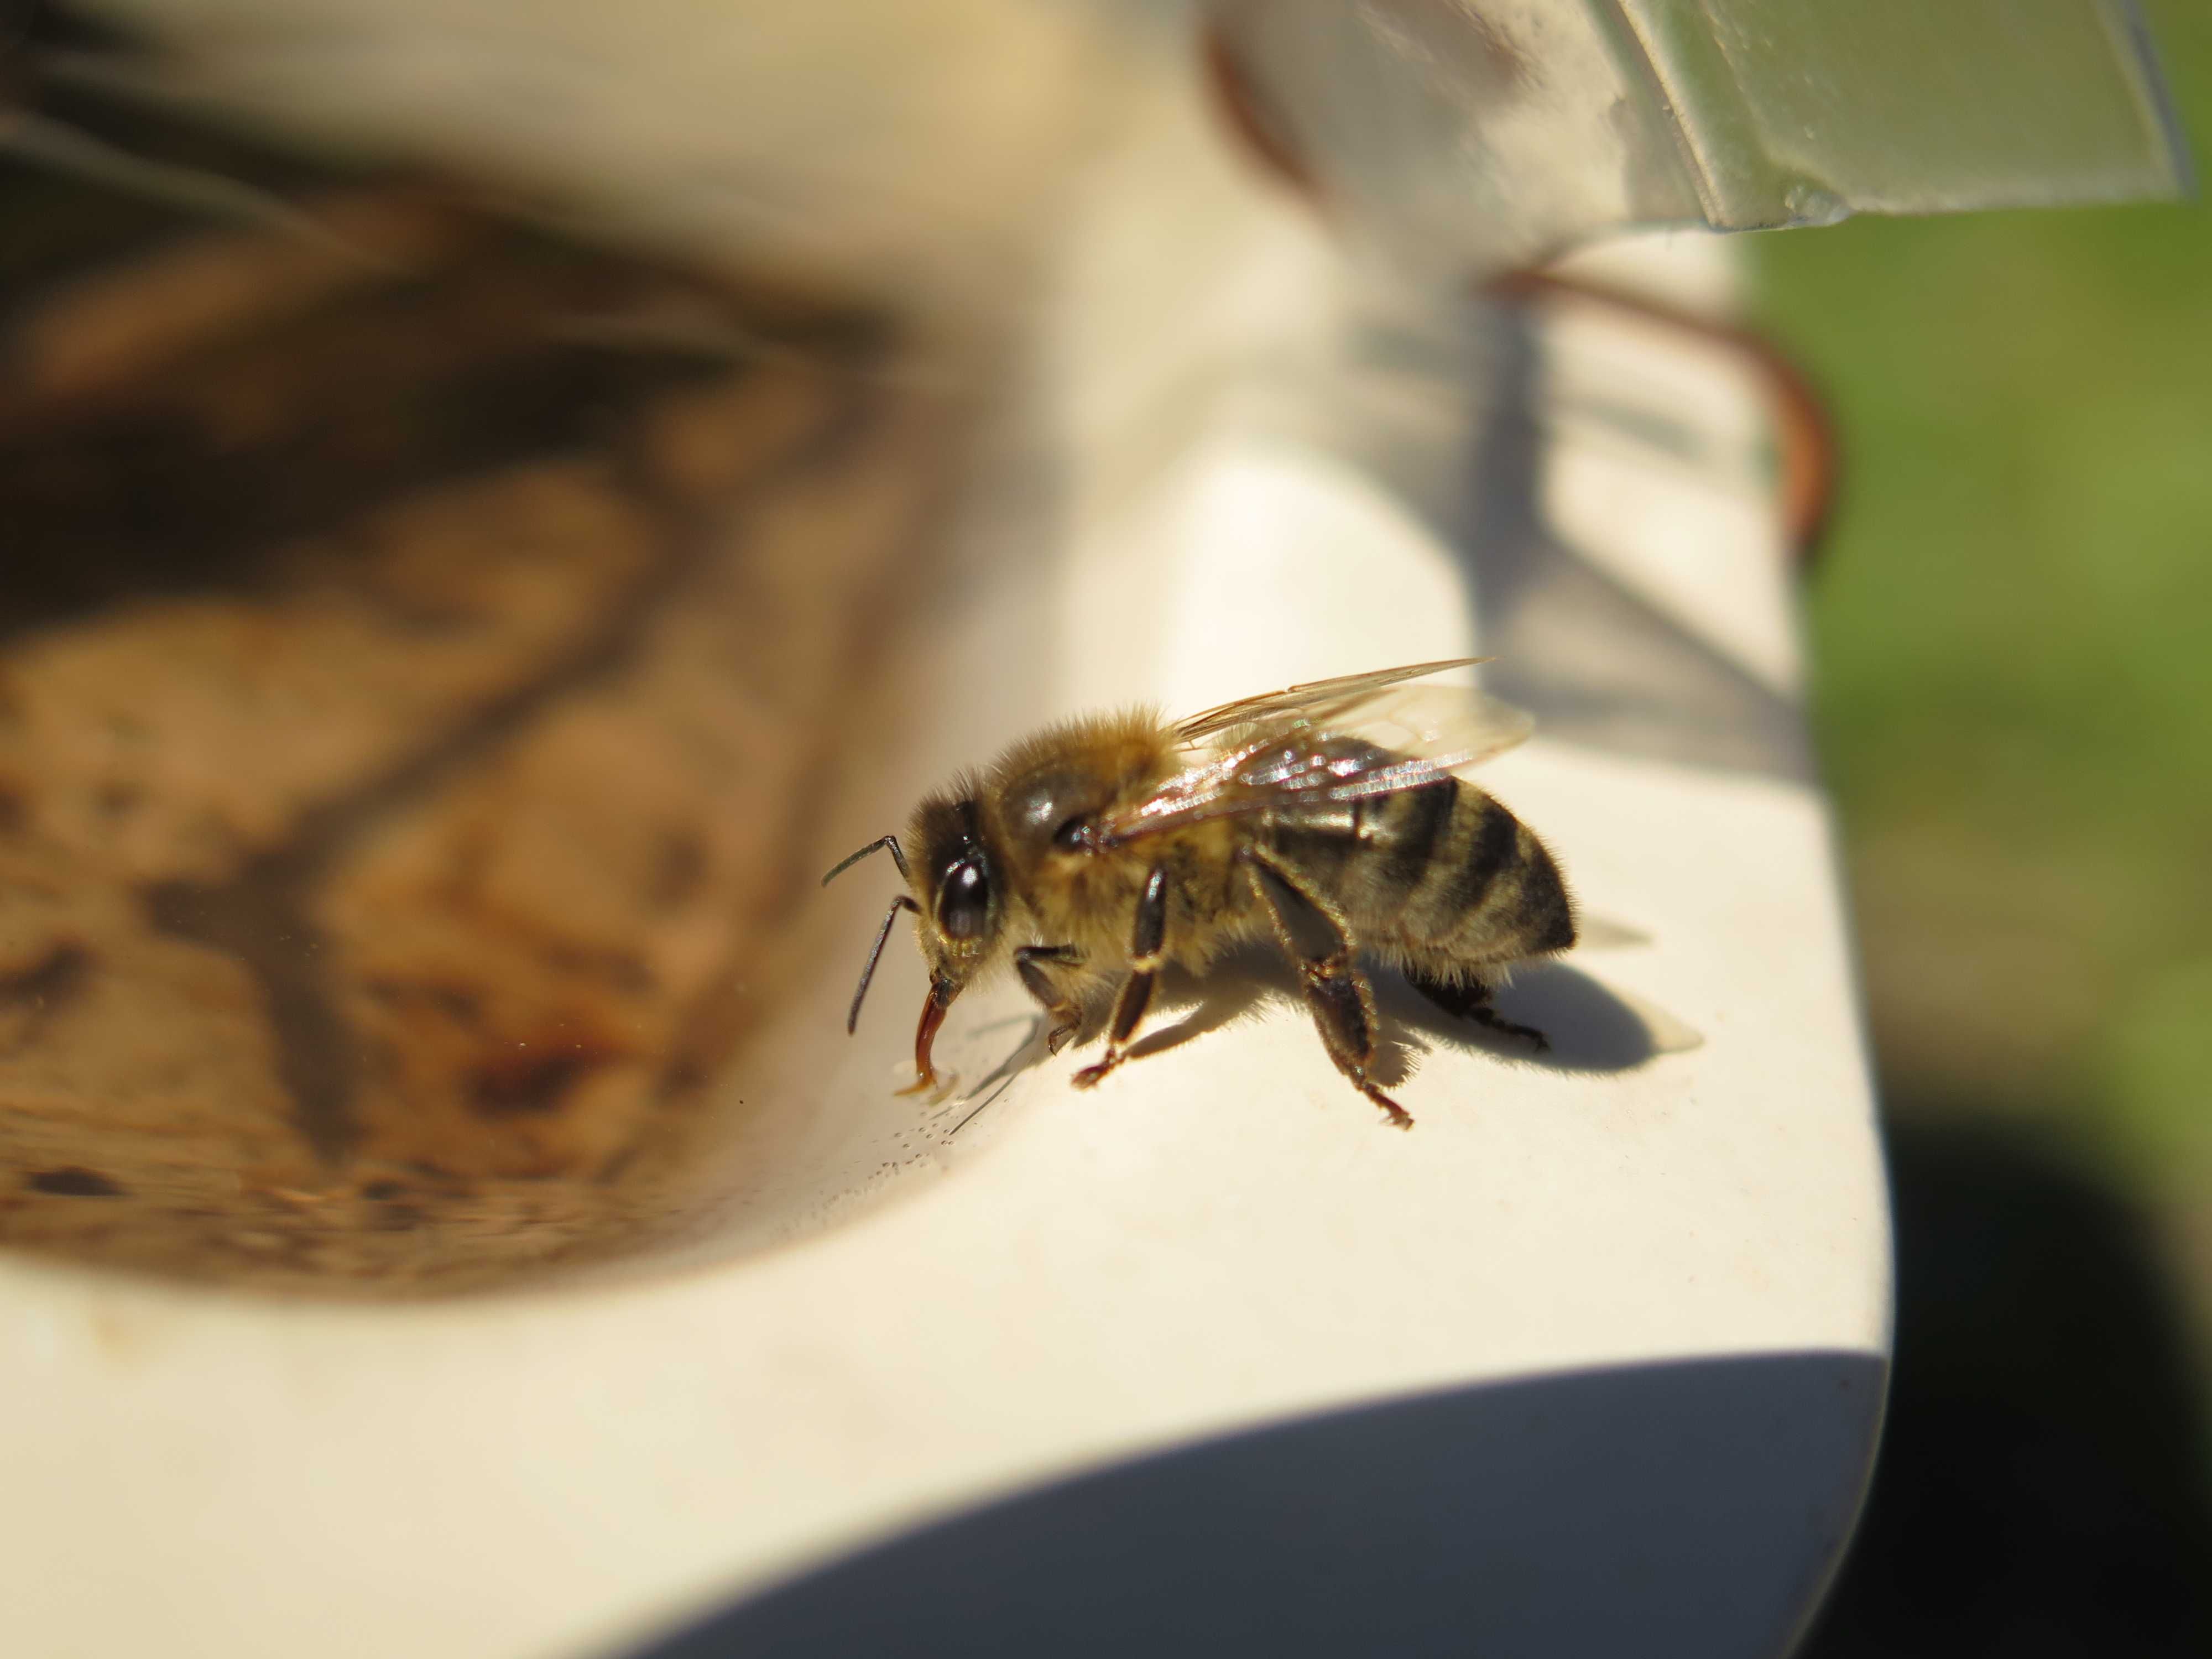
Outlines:
<svg viewBox="0 0 2212 1659"><path fill-rule="evenodd" d="M2212 20L2148 20L2201 161ZM1889 1447L1820 1650L2201 1652L2212 215L1754 248L1845 436L1812 655L1900 1212Z"/></svg>

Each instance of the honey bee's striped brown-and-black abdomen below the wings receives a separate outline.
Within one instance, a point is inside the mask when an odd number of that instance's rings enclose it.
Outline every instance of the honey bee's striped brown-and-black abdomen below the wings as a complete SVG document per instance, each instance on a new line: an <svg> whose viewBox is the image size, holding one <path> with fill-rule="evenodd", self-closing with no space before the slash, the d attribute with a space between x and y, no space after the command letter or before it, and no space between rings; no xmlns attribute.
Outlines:
<svg viewBox="0 0 2212 1659"><path fill-rule="evenodd" d="M1566 885L1526 825L1460 779L1281 814L1270 847L1336 900L1365 951L1438 969L1575 942Z"/></svg>

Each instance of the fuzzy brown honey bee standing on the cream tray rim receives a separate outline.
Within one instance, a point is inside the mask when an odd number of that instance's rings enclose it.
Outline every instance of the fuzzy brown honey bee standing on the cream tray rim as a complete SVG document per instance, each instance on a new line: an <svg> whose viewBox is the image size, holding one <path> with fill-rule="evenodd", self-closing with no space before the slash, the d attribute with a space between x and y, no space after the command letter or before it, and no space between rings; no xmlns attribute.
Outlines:
<svg viewBox="0 0 2212 1659"><path fill-rule="evenodd" d="M1323 679L1175 723L1108 714L1015 743L925 799L905 845L883 836L823 876L889 852L909 889L876 929L847 1033L902 909L929 962L914 1088L936 1084L931 1044L953 998L1009 960L1051 1020L1053 1053L1113 991L1106 1053L1073 1079L1091 1088L1128 1057L1161 969L1203 975L1272 936L1329 1060L1387 1124L1411 1128L1367 1075L1376 1002L1360 958L1542 1048L1540 1031L1491 1009L1491 989L1504 967L1575 942L1544 843L1455 776L1533 721L1480 692L1407 686L1475 661Z"/></svg>

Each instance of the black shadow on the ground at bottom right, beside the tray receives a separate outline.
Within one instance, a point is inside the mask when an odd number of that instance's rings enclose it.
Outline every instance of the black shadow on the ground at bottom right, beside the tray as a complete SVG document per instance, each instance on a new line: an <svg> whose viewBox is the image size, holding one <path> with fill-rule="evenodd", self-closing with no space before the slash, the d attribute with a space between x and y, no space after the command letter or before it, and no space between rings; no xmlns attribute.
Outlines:
<svg viewBox="0 0 2212 1659"><path fill-rule="evenodd" d="M1889 1150L1896 1385L1807 1659L2212 1655L2205 1389L2143 1221L2020 1133Z"/></svg>

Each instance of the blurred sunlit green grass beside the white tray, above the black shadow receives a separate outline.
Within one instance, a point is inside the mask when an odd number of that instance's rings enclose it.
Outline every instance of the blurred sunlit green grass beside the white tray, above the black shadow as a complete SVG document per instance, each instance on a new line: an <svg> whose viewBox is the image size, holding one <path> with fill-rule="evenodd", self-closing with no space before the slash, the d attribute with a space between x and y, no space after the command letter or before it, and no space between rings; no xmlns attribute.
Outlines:
<svg viewBox="0 0 2212 1659"><path fill-rule="evenodd" d="M2203 166L2212 7L2146 15ZM1752 248L1845 447L1812 648L1891 1110L2093 1159L2208 1332L2212 212Z"/></svg>

